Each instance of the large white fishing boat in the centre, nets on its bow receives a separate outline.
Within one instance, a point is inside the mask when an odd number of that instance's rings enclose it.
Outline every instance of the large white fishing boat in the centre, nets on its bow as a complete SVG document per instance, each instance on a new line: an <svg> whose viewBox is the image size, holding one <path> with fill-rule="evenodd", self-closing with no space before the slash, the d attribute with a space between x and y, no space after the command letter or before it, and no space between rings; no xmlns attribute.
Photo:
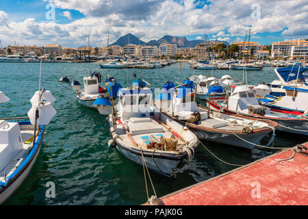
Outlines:
<svg viewBox="0 0 308 219"><path fill-rule="evenodd" d="M192 161L197 138L168 116L151 110L153 93L145 85L138 79L131 88L119 90L118 105L107 118L112 136L108 144L131 161L170 177L183 170L177 168L183 159Z"/></svg>

